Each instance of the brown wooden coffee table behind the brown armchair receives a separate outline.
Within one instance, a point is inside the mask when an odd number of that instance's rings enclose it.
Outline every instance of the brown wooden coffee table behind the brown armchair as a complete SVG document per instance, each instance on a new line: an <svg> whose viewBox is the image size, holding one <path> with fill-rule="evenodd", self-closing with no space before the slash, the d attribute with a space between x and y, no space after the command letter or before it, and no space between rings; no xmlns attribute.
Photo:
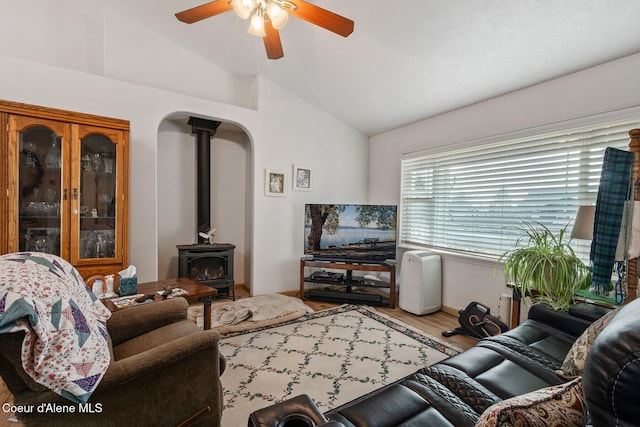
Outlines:
<svg viewBox="0 0 640 427"><path fill-rule="evenodd" d="M182 298L186 299L189 304L195 304L201 302L204 304L204 329L211 329L211 303L213 297L218 293L216 288L204 285L202 283L191 280L187 277L178 277L177 279L159 280L157 282L138 283L138 293L151 295L153 294L153 302L162 301L163 298L158 294L165 289L165 286L171 286L172 288L181 288L188 292L187 295L182 295ZM123 310L117 308L111 302L111 299L104 298L102 303L111 311ZM135 306L129 306L125 308L131 308Z"/></svg>

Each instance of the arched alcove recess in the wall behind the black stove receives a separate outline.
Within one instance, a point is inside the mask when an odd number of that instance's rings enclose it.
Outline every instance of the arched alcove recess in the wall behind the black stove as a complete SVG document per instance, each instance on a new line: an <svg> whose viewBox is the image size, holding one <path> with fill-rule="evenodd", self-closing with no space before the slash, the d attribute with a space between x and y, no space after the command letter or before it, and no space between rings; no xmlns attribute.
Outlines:
<svg viewBox="0 0 640 427"><path fill-rule="evenodd" d="M198 115L176 113L158 128L158 280L177 277L176 245L197 242L196 137L187 123L190 116ZM211 138L211 225L216 242L236 246L234 280L249 290L252 158L249 135L223 121Z"/></svg>

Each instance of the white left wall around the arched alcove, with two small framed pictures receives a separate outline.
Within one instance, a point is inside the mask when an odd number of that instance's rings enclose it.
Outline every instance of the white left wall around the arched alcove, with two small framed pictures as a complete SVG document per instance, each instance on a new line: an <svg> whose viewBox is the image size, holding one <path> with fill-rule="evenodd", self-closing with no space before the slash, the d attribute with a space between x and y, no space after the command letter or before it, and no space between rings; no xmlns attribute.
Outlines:
<svg viewBox="0 0 640 427"><path fill-rule="evenodd" d="M281 87L203 64L127 19L87 2L61 0L51 6L45 0L23 0L3 6L0 36L12 42L0 45L0 98L131 122L129 252L141 281L158 276L158 210L164 197L158 175L180 179L189 172L158 170L164 120L176 114L197 115L242 128L250 144L252 168L244 187L250 203L240 219L250 223L250 233L243 239L252 265L245 267L244 275L251 277L254 294L297 289L304 203L366 200L368 139ZM68 4L86 9L77 12ZM65 25L34 25L38 22ZM134 40L138 49L131 50ZM176 59L181 66L163 69L160 58ZM184 71L191 66L206 69ZM228 85L208 87L194 96L194 88L220 79ZM290 191L294 163L314 168L313 192ZM265 168L288 172L286 198L264 196ZM189 214L175 215L181 221Z"/></svg>

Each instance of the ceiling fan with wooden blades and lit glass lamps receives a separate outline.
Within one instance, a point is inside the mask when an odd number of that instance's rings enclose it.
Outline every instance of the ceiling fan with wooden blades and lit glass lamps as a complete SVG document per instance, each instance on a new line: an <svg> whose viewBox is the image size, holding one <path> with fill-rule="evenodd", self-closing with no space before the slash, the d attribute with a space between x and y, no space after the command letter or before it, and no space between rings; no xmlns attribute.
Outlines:
<svg viewBox="0 0 640 427"><path fill-rule="evenodd" d="M278 30L286 25L289 15L343 37L353 32L352 20L303 0L215 0L178 12L176 18L193 24L232 9L240 18L250 20L249 33L262 37L269 59L284 56Z"/></svg>

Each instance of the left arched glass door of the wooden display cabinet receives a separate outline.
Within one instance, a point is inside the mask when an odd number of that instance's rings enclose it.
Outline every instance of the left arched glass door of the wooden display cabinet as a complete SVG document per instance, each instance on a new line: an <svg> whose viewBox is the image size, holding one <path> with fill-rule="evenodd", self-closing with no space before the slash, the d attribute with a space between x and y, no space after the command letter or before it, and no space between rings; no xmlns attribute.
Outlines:
<svg viewBox="0 0 640 427"><path fill-rule="evenodd" d="M67 126L30 117L9 118L10 157L17 189L10 192L17 218L9 219L10 251L67 255L63 201Z"/></svg>

